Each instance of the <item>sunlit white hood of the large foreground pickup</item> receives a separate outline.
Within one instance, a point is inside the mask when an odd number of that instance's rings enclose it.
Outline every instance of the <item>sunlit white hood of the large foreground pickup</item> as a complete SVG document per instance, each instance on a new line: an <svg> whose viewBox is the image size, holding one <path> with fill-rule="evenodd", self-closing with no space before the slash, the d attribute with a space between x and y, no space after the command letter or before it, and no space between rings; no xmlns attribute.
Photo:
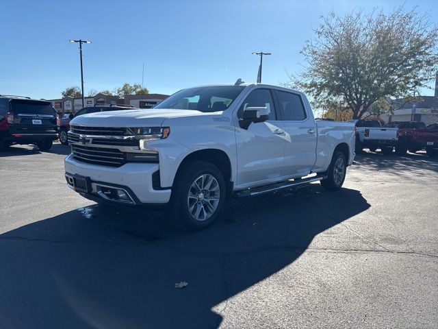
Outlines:
<svg viewBox="0 0 438 329"><path fill-rule="evenodd" d="M172 110L149 108L147 110L120 110L83 114L70 121L70 125L88 127L159 127L163 121L176 117L195 117L211 115L211 112L196 110Z"/></svg>

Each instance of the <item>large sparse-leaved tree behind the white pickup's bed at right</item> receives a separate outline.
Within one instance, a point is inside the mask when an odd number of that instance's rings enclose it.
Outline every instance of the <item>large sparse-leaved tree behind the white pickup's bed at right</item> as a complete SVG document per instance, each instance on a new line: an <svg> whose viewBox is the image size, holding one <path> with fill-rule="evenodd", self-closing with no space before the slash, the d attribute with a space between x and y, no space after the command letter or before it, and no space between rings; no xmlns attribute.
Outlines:
<svg viewBox="0 0 438 329"><path fill-rule="evenodd" d="M313 106L346 106L353 119L387 110L383 99L419 95L438 68L438 27L427 16L400 7L390 14L355 10L322 16L315 38L301 53L305 69L290 85L311 96Z"/></svg>

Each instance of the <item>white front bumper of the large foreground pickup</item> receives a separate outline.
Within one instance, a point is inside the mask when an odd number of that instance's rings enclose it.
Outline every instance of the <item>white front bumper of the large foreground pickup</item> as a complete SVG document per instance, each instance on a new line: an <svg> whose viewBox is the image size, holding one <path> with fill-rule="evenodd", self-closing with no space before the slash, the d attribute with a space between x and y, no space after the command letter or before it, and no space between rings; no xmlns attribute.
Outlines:
<svg viewBox="0 0 438 329"><path fill-rule="evenodd" d="M105 202L121 204L107 199L101 193L101 186L124 190L132 199L135 206L166 204L170 200L170 188L155 190L153 188L153 173L159 170L157 163L123 164L121 167L106 167L96 164L87 164L76 160L72 154L64 160L66 179L69 176L86 178L89 183L88 193L77 191L89 199L102 199ZM73 188L72 184L68 184Z"/></svg>

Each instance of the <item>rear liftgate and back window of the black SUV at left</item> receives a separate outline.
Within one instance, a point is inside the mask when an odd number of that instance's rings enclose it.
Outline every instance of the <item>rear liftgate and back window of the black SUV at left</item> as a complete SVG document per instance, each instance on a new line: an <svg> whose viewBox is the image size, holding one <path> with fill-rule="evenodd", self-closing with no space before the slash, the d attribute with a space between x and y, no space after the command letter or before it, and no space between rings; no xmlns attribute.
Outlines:
<svg viewBox="0 0 438 329"><path fill-rule="evenodd" d="M10 125L14 134L44 134L56 132L56 112L49 101L11 99L10 112L14 123Z"/></svg>

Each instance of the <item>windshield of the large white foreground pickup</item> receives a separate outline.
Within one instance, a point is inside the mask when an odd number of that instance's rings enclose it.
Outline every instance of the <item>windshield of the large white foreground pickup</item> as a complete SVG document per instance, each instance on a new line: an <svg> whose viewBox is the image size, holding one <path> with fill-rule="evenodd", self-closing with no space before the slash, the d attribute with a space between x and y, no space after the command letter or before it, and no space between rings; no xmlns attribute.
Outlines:
<svg viewBox="0 0 438 329"><path fill-rule="evenodd" d="M217 112L227 110L244 86L212 86L180 90L155 108Z"/></svg>

